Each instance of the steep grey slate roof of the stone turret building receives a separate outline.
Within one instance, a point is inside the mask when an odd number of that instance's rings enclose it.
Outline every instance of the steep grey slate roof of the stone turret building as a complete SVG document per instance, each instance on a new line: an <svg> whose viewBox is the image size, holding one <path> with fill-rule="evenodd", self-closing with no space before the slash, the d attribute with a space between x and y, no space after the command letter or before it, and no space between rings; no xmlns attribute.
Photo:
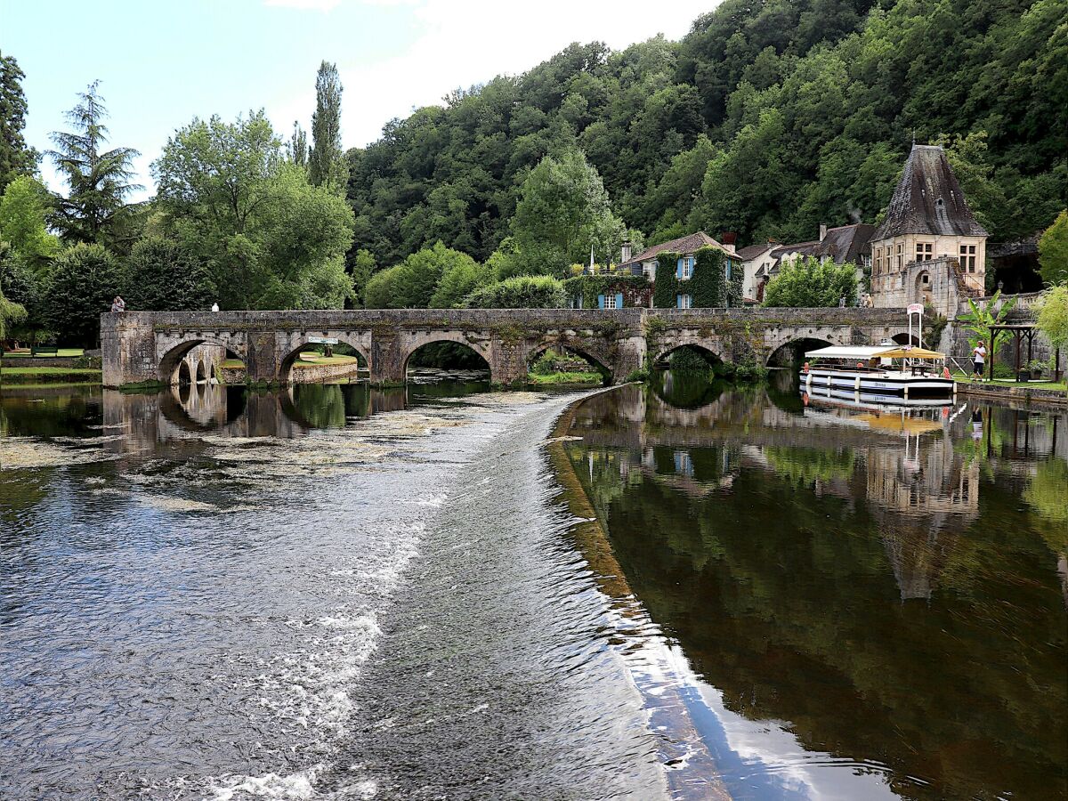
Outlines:
<svg viewBox="0 0 1068 801"><path fill-rule="evenodd" d="M912 145L886 219L871 235L871 241L905 234L988 235L968 207L940 145Z"/></svg>

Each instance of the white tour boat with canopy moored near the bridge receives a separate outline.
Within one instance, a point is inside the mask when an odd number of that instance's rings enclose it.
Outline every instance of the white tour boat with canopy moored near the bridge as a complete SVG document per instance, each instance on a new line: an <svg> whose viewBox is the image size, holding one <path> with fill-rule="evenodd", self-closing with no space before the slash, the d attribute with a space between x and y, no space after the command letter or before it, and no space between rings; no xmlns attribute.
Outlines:
<svg viewBox="0 0 1068 801"><path fill-rule="evenodd" d="M807 351L801 390L813 396L923 406L952 399L956 384L945 368L945 354L908 345L849 345Z"/></svg>

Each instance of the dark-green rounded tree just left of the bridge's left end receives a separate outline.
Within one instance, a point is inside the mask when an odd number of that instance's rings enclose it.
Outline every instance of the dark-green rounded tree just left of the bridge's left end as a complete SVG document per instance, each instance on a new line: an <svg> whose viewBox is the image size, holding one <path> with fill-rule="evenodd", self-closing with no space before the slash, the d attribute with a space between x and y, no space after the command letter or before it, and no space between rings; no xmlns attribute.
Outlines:
<svg viewBox="0 0 1068 801"><path fill-rule="evenodd" d="M119 261L103 245L78 242L56 260L45 294L50 328L59 341L92 347L99 339L100 314L123 284Z"/></svg>

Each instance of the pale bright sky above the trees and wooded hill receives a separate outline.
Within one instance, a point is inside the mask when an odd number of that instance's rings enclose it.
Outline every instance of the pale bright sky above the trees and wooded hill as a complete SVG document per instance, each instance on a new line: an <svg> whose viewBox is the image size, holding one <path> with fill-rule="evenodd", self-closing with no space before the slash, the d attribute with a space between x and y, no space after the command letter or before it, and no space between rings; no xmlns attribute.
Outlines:
<svg viewBox="0 0 1068 801"><path fill-rule="evenodd" d="M94 79L111 117L112 145L141 151L136 167L152 193L151 161L193 116L234 119L265 108L288 136L308 129L315 70L336 62L345 87L346 147L457 87L517 74L570 42L613 48L657 33L678 38L717 0L0 0L0 51L26 73L26 137L38 150ZM119 20L119 21L115 21ZM51 164L46 182L62 190Z"/></svg>

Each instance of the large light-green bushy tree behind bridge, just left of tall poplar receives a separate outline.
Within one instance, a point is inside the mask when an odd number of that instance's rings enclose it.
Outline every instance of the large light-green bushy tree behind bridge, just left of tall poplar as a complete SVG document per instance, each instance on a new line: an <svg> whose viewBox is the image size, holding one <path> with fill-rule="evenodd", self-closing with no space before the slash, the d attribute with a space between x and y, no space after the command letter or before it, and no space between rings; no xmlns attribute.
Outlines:
<svg viewBox="0 0 1068 801"><path fill-rule="evenodd" d="M352 292L352 211L287 160L263 111L193 120L153 163L166 227L230 309L340 308Z"/></svg>

